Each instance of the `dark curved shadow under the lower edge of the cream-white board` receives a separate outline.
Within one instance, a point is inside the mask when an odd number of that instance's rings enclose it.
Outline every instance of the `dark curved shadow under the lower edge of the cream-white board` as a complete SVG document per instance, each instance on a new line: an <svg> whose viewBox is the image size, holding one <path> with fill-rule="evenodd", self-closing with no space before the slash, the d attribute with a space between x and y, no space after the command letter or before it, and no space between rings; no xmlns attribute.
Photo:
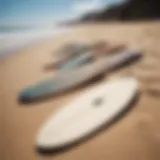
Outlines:
<svg viewBox="0 0 160 160"><path fill-rule="evenodd" d="M71 149L74 149L76 147L79 147L82 143L86 143L87 141L91 140L95 136L98 136L98 134L104 132L106 129L109 129L114 124L118 123L122 118L124 118L124 116L126 116L129 113L129 111L131 111L133 107L137 104L140 98L140 94L141 94L140 92L137 92L134 98L130 101L130 103L125 107L123 111L121 111L116 117L111 119L109 123L102 125L97 130L93 131L91 134L77 140L76 142L71 142L59 148L41 148L41 147L35 146L36 152L43 156L56 156L56 155L65 153L67 151L70 151Z"/></svg>

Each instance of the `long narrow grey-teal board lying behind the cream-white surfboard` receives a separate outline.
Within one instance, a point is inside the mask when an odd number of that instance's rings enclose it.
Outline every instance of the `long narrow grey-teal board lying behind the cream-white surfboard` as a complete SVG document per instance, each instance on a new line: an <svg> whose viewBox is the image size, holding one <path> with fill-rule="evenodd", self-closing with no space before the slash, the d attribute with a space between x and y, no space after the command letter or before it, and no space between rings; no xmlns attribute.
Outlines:
<svg viewBox="0 0 160 160"><path fill-rule="evenodd" d="M19 100L21 102L30 102L67 91L139 57L139 50L126 51L98 59L94 63L89 63L75 70L57 73L49 80L44 80L24 89L19 95Z"/></svg>

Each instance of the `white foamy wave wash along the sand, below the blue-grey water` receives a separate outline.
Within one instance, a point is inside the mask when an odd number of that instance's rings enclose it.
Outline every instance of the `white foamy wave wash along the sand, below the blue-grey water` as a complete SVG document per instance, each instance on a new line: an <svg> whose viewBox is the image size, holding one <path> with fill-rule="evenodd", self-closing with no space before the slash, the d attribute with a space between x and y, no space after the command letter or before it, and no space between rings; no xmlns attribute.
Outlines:
<svg viewBox="0 0 160 160"><path fill-rule="evenodd" d="M2 33L0 34L0 62L17 52L55 39L70 30L71 27L61 27L52 30Z"/></svg>

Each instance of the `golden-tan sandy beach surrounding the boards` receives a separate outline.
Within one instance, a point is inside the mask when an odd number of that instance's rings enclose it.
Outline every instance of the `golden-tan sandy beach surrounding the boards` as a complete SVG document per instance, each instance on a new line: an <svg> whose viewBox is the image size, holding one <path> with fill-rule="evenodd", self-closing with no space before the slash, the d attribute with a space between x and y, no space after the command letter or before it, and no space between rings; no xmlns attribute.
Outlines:
<svg viewBox="0 0 160 160"><path fill-rule="evenodd" d="M83 94L88 87L30 105L18 103L18 92L53 76L54 71L45 71L44 66L54 60L54 51L66 42L95 42L101 39L143 49L141 61L106 75L103 79L107 81L127 75L137 77L141 91L139 101L118 123L86 143L57 156L39 157L34 150L34 143L41 124L52 112ZM0 159L159 160L159 69L160 22L81 25L75 27L72 33L27 48L4 60L0 64Z"/></svg>

